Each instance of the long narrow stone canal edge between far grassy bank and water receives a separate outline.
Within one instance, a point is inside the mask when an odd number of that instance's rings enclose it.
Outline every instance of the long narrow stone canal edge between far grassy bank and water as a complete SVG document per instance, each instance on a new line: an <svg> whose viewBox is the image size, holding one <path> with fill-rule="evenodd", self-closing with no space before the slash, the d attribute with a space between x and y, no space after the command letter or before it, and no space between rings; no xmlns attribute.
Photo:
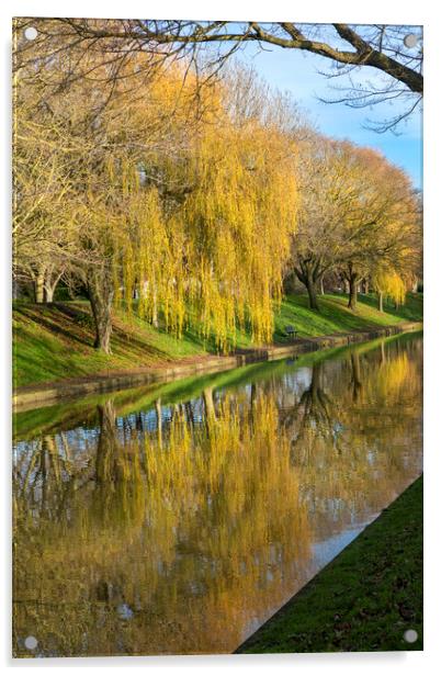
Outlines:
<svg viewBox="0 0 441 676"><path fill-rule="evenodd" d="M372 328L350 334L333 334L315 338L296 338L287 346L270 346L244 350L239 353L218 357L201 357L196 362L177 363L160 369L144 368L131 371L102 373L92 376L68 379L54 383L18 387L12 395L14 410L26 410L78 396L136 387L149 383L163 383L177 378L216 373L259 361L275 361L297 357L326 348L365 342L374 338L394 336L422 328L421 322L406 322L395 326Z"/></svg>

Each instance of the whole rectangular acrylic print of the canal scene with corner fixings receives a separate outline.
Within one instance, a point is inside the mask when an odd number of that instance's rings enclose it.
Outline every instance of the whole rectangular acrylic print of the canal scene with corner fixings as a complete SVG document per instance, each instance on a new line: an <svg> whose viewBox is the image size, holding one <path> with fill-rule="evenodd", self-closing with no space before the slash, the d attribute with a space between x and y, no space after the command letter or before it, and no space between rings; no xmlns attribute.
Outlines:
<svg viewBox="0 0 441 676"><path fill-rule="evenodd" d="M422 649L421 68L14 20L15 657Z"/></svg>

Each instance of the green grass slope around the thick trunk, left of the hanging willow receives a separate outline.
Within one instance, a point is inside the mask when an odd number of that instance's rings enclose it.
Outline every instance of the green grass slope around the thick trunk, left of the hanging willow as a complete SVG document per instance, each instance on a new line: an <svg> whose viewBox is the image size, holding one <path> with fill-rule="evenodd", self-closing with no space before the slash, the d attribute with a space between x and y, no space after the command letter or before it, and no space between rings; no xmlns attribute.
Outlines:
<svg viewBox="0 0 441 676"><path fill-rule="evenodd" d="M205 353L195 337L177 340L137 317L115 313L112 354L93 349L92 318L87 303L13 308L14 386L160 365Z"/></svg>

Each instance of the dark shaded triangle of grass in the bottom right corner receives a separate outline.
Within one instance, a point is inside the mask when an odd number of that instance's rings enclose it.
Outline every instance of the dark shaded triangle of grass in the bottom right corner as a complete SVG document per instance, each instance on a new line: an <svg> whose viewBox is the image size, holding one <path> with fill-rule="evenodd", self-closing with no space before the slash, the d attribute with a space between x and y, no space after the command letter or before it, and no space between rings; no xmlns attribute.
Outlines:
<svg viewBox="0 0 441 676"><path fill-rule="evenodd" d="M237 652L399 650L422 650L422 477Z"/></svg>

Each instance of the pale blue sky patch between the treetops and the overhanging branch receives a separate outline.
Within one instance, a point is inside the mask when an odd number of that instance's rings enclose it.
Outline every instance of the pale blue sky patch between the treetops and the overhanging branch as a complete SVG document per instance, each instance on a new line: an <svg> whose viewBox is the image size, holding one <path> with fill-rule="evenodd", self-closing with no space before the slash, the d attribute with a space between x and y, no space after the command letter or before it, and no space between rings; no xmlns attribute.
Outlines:
<svg viewBox="0 0 441 676"><path fill-rule="evenodd" d="M247 45L240 53L240 60L251 63L256 70L272 86L292 92L308 116L324 134L336 138L349 138L381 150L395 165L403 167L416 188L422 187L422 113L416 112L406 125L400 126L400 135L392 132L378 134L363 128L366 119L383 120L399 113L399 100L393 105L378 104L372 110L351 109L343 103L323 103L317 97L331 98L330 81L321 71L329 71L330 61L323 57L296 49L273 47L259 50ZM373 68L365 68L361 78L375 81L380 75ZM332 84L343 83L342 78L333 79Z"/></svg>

